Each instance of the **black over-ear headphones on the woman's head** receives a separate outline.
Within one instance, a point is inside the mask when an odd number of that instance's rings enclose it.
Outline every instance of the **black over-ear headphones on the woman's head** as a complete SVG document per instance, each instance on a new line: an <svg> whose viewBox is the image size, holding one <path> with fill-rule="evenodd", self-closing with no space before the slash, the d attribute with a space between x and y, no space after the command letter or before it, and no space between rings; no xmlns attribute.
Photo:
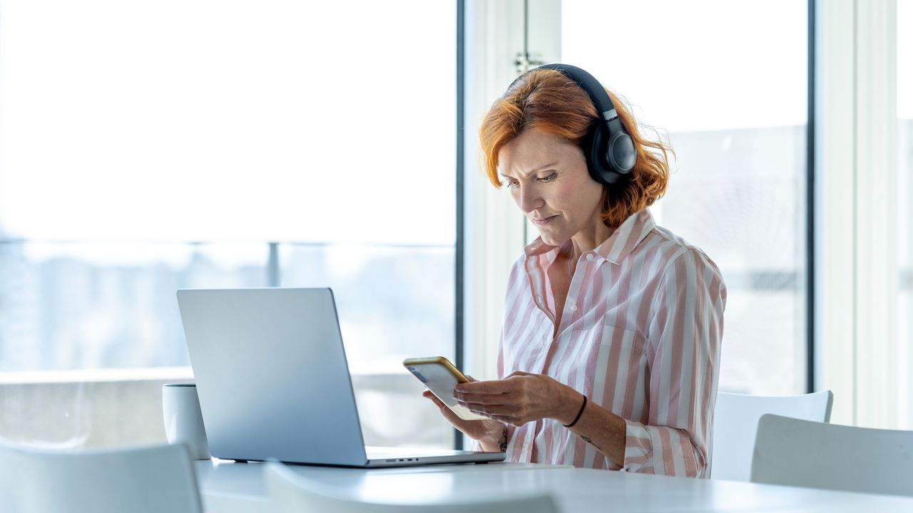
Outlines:
<svg viewBox="0 0 913 513"><path fill-rule="evenodd" d="M586 91L596 110L602 116L590 127L583 137L583 154L586 156L586 167L593 180L599 183L618 183L624 180L637 162L634 141L624 131L622 121L618 119L615 106L599 80L581 68L567 64L546 64L539 68L560 71ZM529 71L528 71L529 72Z"/></svg>

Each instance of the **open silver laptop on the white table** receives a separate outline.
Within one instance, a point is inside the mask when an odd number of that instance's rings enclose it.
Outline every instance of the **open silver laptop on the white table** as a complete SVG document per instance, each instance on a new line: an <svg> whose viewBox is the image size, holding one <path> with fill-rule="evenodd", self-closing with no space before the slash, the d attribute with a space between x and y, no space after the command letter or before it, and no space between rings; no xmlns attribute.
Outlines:
<svg viewBox="0 0 913 513"><path fill-rule="evenodd" d="M358 467L504 459L365 447L330 288L183 289L177 301L217 458Z"/></svg>

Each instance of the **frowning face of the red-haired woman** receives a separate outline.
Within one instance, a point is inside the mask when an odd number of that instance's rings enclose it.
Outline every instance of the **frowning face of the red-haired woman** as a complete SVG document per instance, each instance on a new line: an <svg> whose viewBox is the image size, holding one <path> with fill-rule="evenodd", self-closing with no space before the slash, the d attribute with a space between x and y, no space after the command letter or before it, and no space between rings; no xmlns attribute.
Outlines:
<svg viewBox="0 0 913 513"><path fill-rule="evenodd" d="M546 244L561 246L602 225L603 186L590 177L582 150L571 142L523 131L498 152L498 173Z"/></svg>

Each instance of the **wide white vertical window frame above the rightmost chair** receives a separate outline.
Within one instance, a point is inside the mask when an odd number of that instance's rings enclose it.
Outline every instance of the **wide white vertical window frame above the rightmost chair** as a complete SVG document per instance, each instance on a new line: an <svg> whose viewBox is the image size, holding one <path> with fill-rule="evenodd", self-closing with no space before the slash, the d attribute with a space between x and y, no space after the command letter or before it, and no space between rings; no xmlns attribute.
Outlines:
<svg viewBox="0 0 913 513"><path fill-rule="evenodd" d="M833 422L893 428L897 198L885 191L897 185L897 1L814 4L815 387L834 391Z"/></svg>

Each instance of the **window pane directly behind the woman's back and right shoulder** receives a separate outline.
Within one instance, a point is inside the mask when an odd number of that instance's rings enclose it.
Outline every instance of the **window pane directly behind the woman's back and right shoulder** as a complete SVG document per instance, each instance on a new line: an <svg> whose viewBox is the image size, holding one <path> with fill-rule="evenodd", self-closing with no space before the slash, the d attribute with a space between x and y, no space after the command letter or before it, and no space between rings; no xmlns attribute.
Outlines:
<svg viewBox="0 0 913 513"><path fill-rule="evenodd" d="M807 16L788 0L561 2L561 61L677 152L651 210L726 279L721 391L805 392Z"/></svg>

